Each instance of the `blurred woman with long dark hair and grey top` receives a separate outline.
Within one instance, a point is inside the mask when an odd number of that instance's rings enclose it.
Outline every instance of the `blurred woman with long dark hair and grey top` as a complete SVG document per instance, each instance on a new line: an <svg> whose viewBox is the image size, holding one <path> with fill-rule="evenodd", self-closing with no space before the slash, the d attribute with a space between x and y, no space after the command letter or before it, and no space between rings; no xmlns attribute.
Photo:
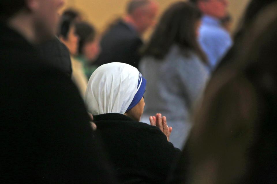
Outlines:
<svg viewBox="0 0 277 184"><path fill-rule="evenodd" d="M171 142L181 148L192 127L191 114L209 78L207 58L197 37L202 13L190 2L172 4L143 50L140 70L148 79L143 121L155 112L173 127Z"/></svg>

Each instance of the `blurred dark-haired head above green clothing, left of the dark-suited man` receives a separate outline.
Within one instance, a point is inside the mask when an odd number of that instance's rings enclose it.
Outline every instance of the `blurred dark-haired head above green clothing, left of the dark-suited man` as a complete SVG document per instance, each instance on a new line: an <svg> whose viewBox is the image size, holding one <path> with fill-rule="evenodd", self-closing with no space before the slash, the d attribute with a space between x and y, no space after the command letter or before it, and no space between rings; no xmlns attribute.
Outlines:
<svg viewBox="0 0 277 184"><path fill-rule="evenodd" d="M78 54L89 61L94 60L100 53L99 39L96 38L94 27L86 22L76 23L76 34L79 37Z"/></svg>

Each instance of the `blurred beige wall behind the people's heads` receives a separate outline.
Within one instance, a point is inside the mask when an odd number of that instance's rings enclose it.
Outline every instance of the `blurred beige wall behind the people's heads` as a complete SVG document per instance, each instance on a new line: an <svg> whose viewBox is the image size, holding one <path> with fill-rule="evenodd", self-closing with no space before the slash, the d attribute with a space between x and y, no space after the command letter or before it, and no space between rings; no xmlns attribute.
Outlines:
<svg viewBox="0 0 277 184"><path fill-rule="evenodd" d="M157 0L160 3L160 13L169 4L178 0ZM122 16L128 0L66 0L65 8L73 7L80 10L85 19L91 22L99 31L106 28L109 22ZM233 16L233 28L237 24L249 0L229 0L229 11ZM150 31L149 31L150 32Z"/></svg>

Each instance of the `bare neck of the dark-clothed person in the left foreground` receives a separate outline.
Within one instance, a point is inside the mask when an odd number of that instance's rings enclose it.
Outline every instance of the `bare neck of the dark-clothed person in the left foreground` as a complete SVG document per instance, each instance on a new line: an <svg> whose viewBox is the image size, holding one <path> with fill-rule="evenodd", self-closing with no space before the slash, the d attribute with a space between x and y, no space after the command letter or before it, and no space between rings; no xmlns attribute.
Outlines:
<svg viewBox="0 0 277 184"><path fill-rule="evenodd" d="M33 19L29 15L20 13L8 20L7 23L10 28L19 32L30 43L34 44L37 42L33 28Z"/></svg>

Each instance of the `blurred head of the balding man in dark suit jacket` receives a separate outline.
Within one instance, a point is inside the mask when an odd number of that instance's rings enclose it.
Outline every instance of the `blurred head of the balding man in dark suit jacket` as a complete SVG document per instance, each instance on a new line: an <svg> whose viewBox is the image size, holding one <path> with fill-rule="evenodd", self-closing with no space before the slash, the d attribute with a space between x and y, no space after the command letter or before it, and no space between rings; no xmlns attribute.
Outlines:
<svg viewBox="0 0 277 184"><path fill-rule="evenodd" d="M136 24L138 32L142 34L155 25L158 3L154 0L131 0L127 6L127 13Z"/></svg>

